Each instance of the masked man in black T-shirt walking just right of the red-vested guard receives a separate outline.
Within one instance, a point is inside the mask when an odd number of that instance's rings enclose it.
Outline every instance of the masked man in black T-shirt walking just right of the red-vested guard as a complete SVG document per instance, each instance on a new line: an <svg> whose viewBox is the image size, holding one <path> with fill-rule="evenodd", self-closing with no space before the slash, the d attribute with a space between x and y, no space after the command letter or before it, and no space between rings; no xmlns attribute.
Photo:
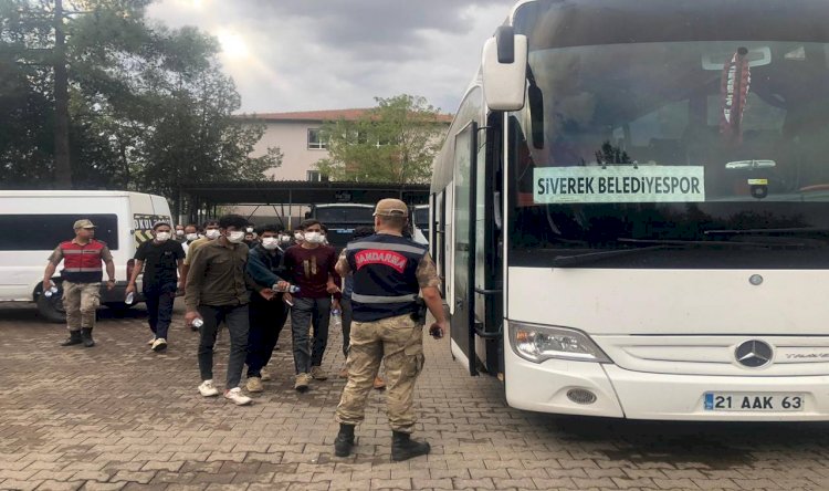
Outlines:
<svg viewBox="0 0 829 491"><path fill-rule="evenodd" d="M172 302L176 300L176 286L185 260L181 242L170 240L171 230L170 224L162 221L153 226L153 240L138 245L135 252L135 267L126 290L127 295L135 293L135 282L144 270L141 286L147 303L149 328L153 331L149 344L154 352L167 349Z"/></svg>

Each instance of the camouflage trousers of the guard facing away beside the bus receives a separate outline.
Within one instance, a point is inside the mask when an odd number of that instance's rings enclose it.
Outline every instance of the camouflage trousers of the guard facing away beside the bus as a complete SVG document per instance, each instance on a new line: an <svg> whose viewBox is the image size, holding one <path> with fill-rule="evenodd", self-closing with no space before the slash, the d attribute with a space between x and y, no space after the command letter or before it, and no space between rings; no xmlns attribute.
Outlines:
<svg viewBox="0 0 829 491"><path fill-rule="evenodd" d="M363 421L380 362L386 365L386 412L391 429L410 433L417 421L412 408L414 383L423 369L423 326L409 315L351 324L348 383L336 420L346 425Z"/></svg>

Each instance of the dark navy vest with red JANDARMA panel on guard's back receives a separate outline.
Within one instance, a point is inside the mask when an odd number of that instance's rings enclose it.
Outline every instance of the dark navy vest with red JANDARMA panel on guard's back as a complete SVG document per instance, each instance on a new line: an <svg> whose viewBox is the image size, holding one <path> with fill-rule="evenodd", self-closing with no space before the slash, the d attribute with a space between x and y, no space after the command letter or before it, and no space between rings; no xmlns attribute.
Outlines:
<svg viewBox="0 0 829 491"><path fill-rule="evenodd" d="M350 242L346 258L354 273L354 320L372 322L416 312L416 272L426 252L426 245L384 233Z"/></svg>

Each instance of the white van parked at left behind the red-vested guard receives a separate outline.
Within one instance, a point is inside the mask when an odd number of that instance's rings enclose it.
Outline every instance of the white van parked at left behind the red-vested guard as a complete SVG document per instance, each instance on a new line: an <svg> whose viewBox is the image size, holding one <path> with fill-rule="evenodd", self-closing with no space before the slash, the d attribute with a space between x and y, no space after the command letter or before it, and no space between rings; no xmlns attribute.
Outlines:
<svg viewBox="0 0 829 491"><path fill-rule="evenodd" d="M116 285L102 288L104 305L124 309L136 245L151 238L156 221L170 222L160 196L127 191L0 191L0 302L35 302L41 315L63 322L62 292L42 294L43 271L59 243L75 237L75 220L97 226L95 239L107 243L115 262ZM170 222L170 224L172 224ZM60 271L61 267L59 267ZM61 278L52 280L60 289ZM140 288L136 301L143 302Z"/></svg>

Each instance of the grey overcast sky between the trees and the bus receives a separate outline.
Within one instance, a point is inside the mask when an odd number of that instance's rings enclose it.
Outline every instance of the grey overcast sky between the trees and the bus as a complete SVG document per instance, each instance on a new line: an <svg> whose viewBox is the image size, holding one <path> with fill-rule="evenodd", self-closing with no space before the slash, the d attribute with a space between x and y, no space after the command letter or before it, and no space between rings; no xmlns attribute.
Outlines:
<svg viewBox="0 0 829 491"><path fill-rule="evenodd" d="M514 0L159 0L149 15L216 35L242 111L371 107L422 95L454 113Z"/></svg>

